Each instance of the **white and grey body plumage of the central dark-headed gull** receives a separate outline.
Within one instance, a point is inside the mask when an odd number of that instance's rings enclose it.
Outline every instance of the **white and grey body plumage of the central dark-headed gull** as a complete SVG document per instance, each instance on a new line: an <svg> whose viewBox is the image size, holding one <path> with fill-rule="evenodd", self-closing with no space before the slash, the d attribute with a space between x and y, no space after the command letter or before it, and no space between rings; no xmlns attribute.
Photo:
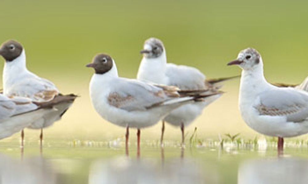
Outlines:
<svg viewBox="0 0 308 184"><path fill-rule="evenodd" d="M123 102L108 101L113 94L118 94L117 98ZM107 73L92 76L90 97L104 119L132 128L152 126L172 109L193 100L193 97L170 97L159 86L118 77L115 63Z"/></svg>

